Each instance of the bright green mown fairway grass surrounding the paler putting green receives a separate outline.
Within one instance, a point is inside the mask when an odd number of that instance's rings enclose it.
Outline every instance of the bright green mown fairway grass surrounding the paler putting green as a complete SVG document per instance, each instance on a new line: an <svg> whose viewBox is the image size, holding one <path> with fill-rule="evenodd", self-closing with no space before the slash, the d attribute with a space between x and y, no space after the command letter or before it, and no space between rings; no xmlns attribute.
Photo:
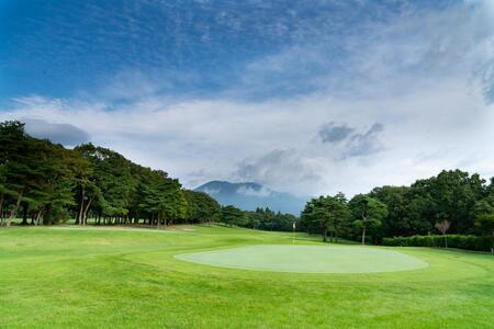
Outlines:
<svg viewBox="0 0 494 329"><path fill-rule="evenodd" d="M429 266L366 274L246 271L175 258L283 243L292 243L290 234L204 226L167 231L0 229L0 327L492 328L494 324L494 257L486 253L385 248ZM296 243L321 246L304 235L297 235Z"/></svg>

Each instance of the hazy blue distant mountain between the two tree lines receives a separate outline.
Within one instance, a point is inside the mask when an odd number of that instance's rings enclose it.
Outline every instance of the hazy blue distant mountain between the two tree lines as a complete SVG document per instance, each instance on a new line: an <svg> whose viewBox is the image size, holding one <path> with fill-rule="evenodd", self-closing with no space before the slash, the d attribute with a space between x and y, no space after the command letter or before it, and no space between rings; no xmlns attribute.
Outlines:
<svg viewBox="0 0 494 329"><path fill-rule="evenodd" d="M307 200L289 193L272 191L257 183L211 181L195 191L205 192L222 205L234 205L244 211L269 207L272 211L300 215Z"/></svg>

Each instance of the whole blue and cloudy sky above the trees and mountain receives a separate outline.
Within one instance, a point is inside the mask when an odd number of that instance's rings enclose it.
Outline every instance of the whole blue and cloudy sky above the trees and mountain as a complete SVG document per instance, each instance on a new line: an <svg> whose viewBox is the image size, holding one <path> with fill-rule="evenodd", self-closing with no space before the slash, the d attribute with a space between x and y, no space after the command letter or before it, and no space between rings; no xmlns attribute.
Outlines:
<svg viewBox="0 0 494 329"><path fill-rule="evenodd" d="M493 22L489 0L3 0L0 120L188 186L491 175Z"/></svg>

